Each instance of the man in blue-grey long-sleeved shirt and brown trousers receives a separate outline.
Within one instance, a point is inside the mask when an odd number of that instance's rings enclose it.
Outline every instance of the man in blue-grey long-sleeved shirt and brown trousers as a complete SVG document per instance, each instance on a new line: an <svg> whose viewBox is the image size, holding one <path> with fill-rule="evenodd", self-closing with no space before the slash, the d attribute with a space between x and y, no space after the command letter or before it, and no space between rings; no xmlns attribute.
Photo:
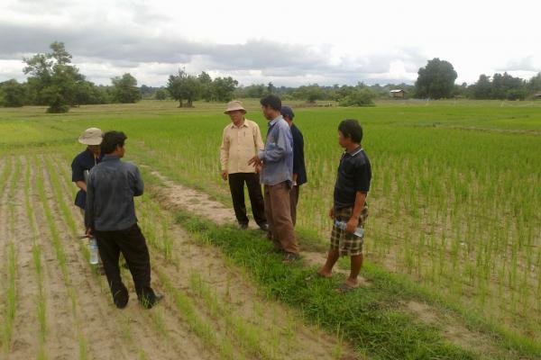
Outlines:
<svg viewBox="0 0 541 360"><path fill-rule="evenodd" d="M260 103L263 115L269 121L269 130L265 148L248 163L261 166L265 215L274 252L285 253L283 262L289 264L299 258L289 199L293 183L293 138L288 122L280 114L280 97L271 94L263 97Z"/></svg>

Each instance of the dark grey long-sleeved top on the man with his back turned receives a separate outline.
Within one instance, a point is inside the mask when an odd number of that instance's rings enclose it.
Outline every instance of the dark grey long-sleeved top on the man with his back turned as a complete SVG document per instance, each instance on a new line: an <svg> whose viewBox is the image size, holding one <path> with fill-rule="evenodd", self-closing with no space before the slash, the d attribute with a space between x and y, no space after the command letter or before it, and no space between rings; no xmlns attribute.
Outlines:
<svg viewBox="0 0 541 360"><path fill-rule="evenodd" d="M132 227L137 222L133 196L142 195L143 188L137 166L105 155L88 175L87 228L115 231Z"/></svg>

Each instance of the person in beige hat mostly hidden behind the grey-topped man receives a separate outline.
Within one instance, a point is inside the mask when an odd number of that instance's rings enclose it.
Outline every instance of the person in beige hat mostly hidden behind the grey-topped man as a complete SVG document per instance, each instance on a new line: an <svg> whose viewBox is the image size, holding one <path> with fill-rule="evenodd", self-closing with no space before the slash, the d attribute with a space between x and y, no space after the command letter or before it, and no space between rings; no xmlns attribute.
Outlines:
<svg viewBox="0 0 541 360"><path fill-rule="evenodd" d="M99 164L103 158L100 144L102 142L102 130L89 128L78 138L78 142L87 145L85 151L78 154L71 162L71 181L74 182L79 191L75 196L75 205L85 216L85 205L87 203L87 176L92 167ZM105 275L101 257L98 257L97 272Z"/></svg>

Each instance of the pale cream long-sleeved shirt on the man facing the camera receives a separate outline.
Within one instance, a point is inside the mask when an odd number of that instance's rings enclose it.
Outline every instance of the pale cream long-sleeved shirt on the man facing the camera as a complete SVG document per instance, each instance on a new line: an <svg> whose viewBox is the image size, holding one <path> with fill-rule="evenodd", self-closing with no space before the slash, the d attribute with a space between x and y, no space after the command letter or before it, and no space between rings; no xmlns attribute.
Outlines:
<svg viewBox="0 0 541 360"><path fill-rule="evenodd" d="M228 124L220 146L222 170L227 170L229 174L254 173L255 169L248 165L248 160L262 148L263 140L257 123L244 119L241 126Z"/></svg>

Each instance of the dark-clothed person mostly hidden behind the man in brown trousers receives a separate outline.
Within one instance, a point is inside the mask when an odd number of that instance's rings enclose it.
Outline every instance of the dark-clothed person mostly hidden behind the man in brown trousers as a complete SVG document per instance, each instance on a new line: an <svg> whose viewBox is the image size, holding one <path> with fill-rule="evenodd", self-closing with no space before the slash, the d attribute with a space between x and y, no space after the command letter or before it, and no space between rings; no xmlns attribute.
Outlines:
<svg viewBox="0 0 541 360"><path fill-rule="evenodd" d="M293 184L289 197L291 202L291 220L293 221L293 226L295 226L297 224L297 204L300 185L307 183L307 167L304 162L304 138L302 132L293 123L293 118L295 117L293 109L284 105L280 113L284 120L288 122L289 129L291 129L291 136L293 137Z"/></svg>

